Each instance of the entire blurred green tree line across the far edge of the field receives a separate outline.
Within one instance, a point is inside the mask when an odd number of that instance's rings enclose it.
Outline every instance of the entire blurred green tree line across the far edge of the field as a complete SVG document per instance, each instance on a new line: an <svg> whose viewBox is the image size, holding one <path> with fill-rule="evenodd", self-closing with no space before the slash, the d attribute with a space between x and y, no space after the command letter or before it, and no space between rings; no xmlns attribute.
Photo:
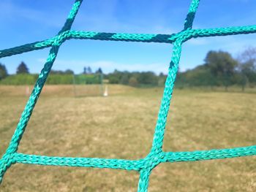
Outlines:
<svg viewBox="0 0 256 192"><path fill-rule="evenodd" d="M8 75L7 69L0 64L0 83L9 85L34 84L38 74L29 74L24 62L18 66L15 75ZM66 71L52 70L48 77L48 84L99 84L102 78L111 84L131 86L163 86L166 75L154 72L114 72L103 74L99 68L92 72L90 66L83 68L81 74L74 74L70 69ZM29 83L28 83L29 82ZM248 47L237 58L222 50L210 50L206 54L204 63L178 72L176 86L180 88L193 86L223 86L227 90L231 85L239 85L244 90L246 86L256 85L256 48Z"/></svg>

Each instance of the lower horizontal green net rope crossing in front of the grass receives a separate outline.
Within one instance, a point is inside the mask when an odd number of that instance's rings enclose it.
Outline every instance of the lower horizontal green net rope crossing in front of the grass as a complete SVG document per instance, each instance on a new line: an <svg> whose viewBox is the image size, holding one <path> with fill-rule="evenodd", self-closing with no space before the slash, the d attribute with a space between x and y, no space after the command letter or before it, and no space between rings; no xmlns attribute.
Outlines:
<svg viewBox="0 0 256 192"><path fill-rule="evenodd" d="M39 164L57 166L84 166L109 169L135 170L146 168L148 162L150 166L164 162L200 161L222 158L235 158L241 156L254 155L256 146L235 147L231 149L219 150L197 150L187 152L162 152L157 161L108 159L108 158L72 158L72 157L51 157L45 155L28 155L15 153L14 160L20 164ZM158 162L159 161L159 162Z"/></svg>

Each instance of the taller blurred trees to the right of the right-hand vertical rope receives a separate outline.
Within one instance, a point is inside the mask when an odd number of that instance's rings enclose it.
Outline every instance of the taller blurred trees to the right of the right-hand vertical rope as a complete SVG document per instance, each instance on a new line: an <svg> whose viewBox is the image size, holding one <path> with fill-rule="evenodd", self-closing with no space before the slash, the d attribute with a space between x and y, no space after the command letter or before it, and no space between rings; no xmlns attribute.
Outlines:
<svg viewBox="0 0 256 192"><path fill-rule="evenodd" d="M195 69L179 72L176 84L186 86L223 86L227 91L231 85L256 85L256 48L248 47L238 58L228 52L209 51L204 64Z"/></svg>

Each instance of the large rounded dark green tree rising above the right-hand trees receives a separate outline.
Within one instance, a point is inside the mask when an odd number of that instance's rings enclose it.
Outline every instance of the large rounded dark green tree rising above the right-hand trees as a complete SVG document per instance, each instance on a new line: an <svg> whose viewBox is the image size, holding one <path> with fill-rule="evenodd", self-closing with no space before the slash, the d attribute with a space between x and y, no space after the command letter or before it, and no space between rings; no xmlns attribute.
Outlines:
<svg viewBox="0 0 256 192"><path fill-rule="evenodd" d="M235 74L238 62L230 55L230 53L219 51L209 51L205 58L206 66L210 69L211 74L217 79L217 83L225 86L232 85L233 75Z"/></svg>

